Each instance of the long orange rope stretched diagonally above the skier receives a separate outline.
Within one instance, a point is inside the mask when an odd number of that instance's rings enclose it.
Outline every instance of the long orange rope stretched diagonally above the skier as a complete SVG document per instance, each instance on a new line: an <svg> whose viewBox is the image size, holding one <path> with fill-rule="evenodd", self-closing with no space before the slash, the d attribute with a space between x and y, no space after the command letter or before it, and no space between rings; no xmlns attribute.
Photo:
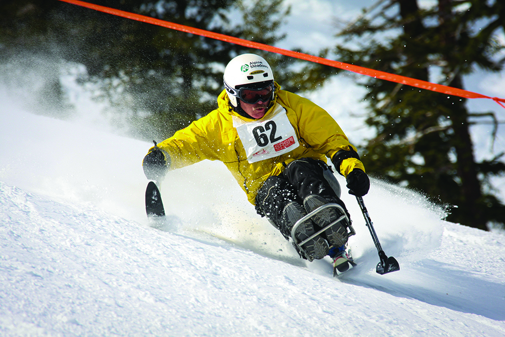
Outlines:
<svg viewBox="0 0 505 337"><path fill-rule="evenodd" d="M442 85L442 84L431 83L431 82L422 81L422 80L418 80L418 79L414 79L414 78L410 78L410 77L406 77L406 76L390 74L390 73L386 73L383 71L378 71L378 70L373 70L373 69L364 68L364 67L360 67L360 66L355 66L352 64L347 64L347 63L338 62L338 61L332 61L332 60L324 59L324 58L317 57L317 56L293 52L293 51L289 51L286 49L274 47L274 46L271 46L268 44L252 42L252 41L244 40L244 39L233 37L233 36L214 33L214 32L208 31L208 30L203 30L203 29L198 29L198 28L192 28L192 27L180 25L177 23L163 21L160 19L155 19L155 18L151 18L148 16L139 15L139 14L135 14L135 13L120 11L120 10L116 10L116 9L109 8L109 7L94 5L94 4L86 3L83 1L78 1L78 0L59 0L59 1L73 4L73 5L77 5L77 6L86 7L86 8L95 10L95 11L104 12L104 13L120 16L123 18L131 19L131 20L146 22L146 23L150 23L153 25L158 25L158 26L162 26L162 27L166 27L166 28L170 28L170 29L179 30L182 32L187 32L187 33L191 33L191 34L195 34L195 35L210 37L210 38L225 41L225 42L243 45L243 46L249 47L249 48L261 49L261 50L272 52L272 53L277 53L277 54L281 54L281 55L285 55L285 56L298 58L301 60L320 63L320 64L324 64L324 65L327 65L330 67L348 70L348 71L352 71L352 72L355 72L358 74L383 79L386 81L406 84L406 85L414 86L414 87L421 88L421 89L446 93L449 95L455 95L455 96L463 97L463 98L467 98L467 99L490 99L490 100L493 100L496 103L498 103L501 107L505 108L505 105L502 104L502 103L505 103L505 99L500 99L497 97L489 97L489 96L486 96L486 95L483 95L480 93L476 93L476 92L472 92L472 91L468 91L468 90L464 90L464 89L453 88L453 87Z"/></svg>

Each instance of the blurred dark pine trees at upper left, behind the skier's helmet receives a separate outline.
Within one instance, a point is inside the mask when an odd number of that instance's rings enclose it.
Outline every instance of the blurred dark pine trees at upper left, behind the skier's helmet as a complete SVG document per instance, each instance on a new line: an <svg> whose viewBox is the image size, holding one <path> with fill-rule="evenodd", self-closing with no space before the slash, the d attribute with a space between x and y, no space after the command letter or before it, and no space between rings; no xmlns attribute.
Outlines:
<svg viewBox="0 0 505 337"><path fill-rule="evenodd" d="M283 38L277 29L289 13L283 0L90 2L267 44ZM134 112L131 123L145 128L149 139L168 137L214 109L223 89L224 67L232 57L245 52L264 55L55 0L4 1L0 3L0 60L26 50L85 65L87 80L100 83L112 103L127 105ZM291 62L271 54L268 59L273 65ZM276 77L282 79L284 73L276 72ZM142 114L145 111L149 116ZM153 129L159 135L153 135Z"/></svg>

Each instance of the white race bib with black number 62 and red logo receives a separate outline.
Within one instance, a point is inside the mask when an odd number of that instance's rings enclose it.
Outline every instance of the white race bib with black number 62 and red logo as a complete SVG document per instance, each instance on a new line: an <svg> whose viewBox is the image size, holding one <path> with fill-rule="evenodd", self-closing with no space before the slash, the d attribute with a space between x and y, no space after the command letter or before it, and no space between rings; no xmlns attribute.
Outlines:
<svg viewBox="0 0 505 337"><path fill-rule="evenodd" d="M279 104L268 119L246 122L233 116L233 127L237 129L249 163L283 155L299 146L286 109Z"/></svg>

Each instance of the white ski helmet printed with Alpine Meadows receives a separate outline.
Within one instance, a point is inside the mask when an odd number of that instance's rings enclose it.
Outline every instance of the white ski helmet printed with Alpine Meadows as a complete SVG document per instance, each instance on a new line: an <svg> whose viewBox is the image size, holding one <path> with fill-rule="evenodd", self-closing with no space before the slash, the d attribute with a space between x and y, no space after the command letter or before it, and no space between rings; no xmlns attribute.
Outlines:
<svg viewBox="0 0 505 337"><path fill-rule="evenodd" d="M255 54L233 58L224 70L224 86L231 104L237 107L240 88L261 89L274 83L274 74L267 61ZM272 98L274 91L272 90Z"/></svg>

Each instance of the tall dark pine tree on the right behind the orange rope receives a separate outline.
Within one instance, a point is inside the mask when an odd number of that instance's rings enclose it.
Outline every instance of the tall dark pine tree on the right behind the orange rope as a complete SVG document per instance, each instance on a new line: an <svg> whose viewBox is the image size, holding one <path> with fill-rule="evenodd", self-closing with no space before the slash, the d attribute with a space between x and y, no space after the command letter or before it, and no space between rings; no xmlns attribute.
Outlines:
<svg viewBox="0 0 505 337"><path fill-rule="evenodd" d="M502 69L505 28L500 1L438 0L421 9L415 0L380 1L338 36L338 60L462 88L463 76ZM432 80L433 81L433 80ZM449 207L447 220L486 230L503 226L505 206L484 187L505 172L501 155L476 162L470 126L482 116L466 100L369 78L366 120L377 136L364 149L367 170L424 191ZM489 114L485 114L489 115ZM495 119L496 120L496 119Z"/></svg>

